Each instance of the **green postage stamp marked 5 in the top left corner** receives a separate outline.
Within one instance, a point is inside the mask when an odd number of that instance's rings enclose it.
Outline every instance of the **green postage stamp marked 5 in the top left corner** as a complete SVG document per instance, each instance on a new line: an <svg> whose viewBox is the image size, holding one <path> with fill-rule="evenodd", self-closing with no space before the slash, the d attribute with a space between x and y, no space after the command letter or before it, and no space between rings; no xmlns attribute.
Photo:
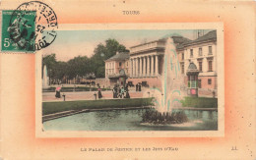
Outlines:
<svg viewBox="0 0 256 160"><path fill-rule="evenodd" d="M2 11L3 52L33 52L35 50L35 11Z"/></svg>

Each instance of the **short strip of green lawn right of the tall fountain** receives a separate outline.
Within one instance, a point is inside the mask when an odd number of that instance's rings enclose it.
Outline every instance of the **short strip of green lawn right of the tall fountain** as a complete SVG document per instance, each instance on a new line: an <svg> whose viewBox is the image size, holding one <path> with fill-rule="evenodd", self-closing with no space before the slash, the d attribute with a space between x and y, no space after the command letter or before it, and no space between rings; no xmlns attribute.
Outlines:
<svg viewBox="0 0 256 160"><path fill-rule="evenodd" d="M183 107L195 107L195 108L217 108L218 98L207 97L184 97L180 101Z"/></svg>

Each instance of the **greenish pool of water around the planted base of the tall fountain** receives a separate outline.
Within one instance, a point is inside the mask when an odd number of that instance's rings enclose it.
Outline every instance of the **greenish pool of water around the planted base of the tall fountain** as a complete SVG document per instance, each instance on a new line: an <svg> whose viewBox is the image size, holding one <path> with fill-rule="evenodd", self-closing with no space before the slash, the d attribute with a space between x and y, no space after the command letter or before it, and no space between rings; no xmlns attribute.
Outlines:
<svg viewBox="0 0 256 160"><path fill-rule="evenodd" d="M44 131L217 131L218 112L182 110L188 122L173 125L142 123L142 115L151 109L86 112L43 123ZM173 109L172 112L181 110Z"/></svg>

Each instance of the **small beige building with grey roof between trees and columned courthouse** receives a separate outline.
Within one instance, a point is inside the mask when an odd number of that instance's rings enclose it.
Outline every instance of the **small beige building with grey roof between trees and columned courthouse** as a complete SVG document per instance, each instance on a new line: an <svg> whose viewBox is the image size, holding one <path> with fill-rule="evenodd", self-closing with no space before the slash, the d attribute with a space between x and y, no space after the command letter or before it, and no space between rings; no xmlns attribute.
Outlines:
<svg viewBox="0 0 256 160"><path fill-rule="evenodd" d="M109 80L109 85L116 83L124 84L129 77L130 54L127 52L116 52L116 55L105 60L105 79Z"/></svg>

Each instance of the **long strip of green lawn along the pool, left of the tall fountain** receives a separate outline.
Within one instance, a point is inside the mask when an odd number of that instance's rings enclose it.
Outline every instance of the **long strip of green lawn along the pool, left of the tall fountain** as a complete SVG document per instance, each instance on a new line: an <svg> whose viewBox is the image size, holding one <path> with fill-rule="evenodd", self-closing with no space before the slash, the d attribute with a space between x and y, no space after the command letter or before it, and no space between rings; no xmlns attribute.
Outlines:
<svg viewBox="0 0 256 160"><path fill-rule="evenodd" d="M149 106L151 104L152 98L42 102L42 115L68 110L140 107Z"/></svg>

